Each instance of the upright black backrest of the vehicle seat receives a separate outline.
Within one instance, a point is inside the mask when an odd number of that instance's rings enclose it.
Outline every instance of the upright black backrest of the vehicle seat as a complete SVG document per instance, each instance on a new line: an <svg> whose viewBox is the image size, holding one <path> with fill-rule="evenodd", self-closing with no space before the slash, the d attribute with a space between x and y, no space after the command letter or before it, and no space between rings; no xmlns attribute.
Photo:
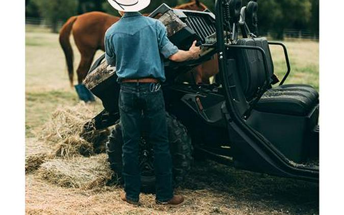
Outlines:
<svg viewBox="0 0 344 215"><path fill-rule="evenodd" d="M274 64L272 62L269 43L266 38L243 38L238 40L237 45L261 47L266 53L269 76L273 76ZM251 101L266 80L261 52L252 49L239 49L235 52L235 59L244 94L247 101Z"/></svg>

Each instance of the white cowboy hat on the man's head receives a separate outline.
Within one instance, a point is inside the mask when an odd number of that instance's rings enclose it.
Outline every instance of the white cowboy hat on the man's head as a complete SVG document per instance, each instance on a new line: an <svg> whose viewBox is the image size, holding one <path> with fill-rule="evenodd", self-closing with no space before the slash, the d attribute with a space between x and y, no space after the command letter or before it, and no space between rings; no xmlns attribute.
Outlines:
<svg viewBox="0 0 344 215"><path fill-rule="evenodd" d="M124 12L137 12L150 4L150 0L108 0L108 2L116 10Z"/></svg>

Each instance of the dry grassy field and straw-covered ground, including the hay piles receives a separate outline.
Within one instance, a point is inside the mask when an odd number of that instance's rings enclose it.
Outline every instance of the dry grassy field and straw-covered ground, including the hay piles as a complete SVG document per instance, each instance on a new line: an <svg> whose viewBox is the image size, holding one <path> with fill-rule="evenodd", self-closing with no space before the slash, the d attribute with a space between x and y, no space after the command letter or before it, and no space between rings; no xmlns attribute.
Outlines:
<svg viewBox="0 0 344 215"><path fill-rule="evenodd" d="M156 206L154 196L146 194L140 196L141 206L122 202L120 187L104 186L109 177L106 155L77 155L68 145L80 141L75 133L68 136L75 129L70 126L71 120L82 123L80 120L101 110L101 103L84 105L78 101L69 86L57 34L27 26L25 39L25 154L27 162L34 164L25 166L27 214L319 214L318 184L235 170L210 161L195 163L176 190L186 197L181 207ZM292 62L292 74L286 83L311 84L319 90L319 44L285 44ZM80 55L73 47L76 68ZM273 48L273 58L282 78L282 50ZM57 127L56 122L65 124ZM88 149L87 143L83 147Z"/></svg>

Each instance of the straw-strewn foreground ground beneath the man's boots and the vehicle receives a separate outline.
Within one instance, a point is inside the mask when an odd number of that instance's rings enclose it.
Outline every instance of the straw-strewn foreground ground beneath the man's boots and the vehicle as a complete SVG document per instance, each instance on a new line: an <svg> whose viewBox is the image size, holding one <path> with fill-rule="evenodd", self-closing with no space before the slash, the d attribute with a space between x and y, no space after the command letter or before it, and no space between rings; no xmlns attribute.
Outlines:
<svg viewBox="0 0 344 215"><path fill-rule="evenodd" d="M206 173L206 174L204 174ZM197 163L176 190L183 206L156 206L140 195L141 206L119 199L120 187L82 191L27 175L28 214L318 214L319 186L305 181L239 171L214 162Z"/></svg>

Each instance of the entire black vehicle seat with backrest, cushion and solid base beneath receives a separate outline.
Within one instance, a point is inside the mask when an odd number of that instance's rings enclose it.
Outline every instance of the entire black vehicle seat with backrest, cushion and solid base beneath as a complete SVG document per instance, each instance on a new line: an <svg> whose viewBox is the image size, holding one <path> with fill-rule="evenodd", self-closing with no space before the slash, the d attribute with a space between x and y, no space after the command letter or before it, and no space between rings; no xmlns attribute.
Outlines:
<svg viewBox="0 0 344 215"><path fill-rule="evenodd" d="M261 47L268 61L270 83L266 92L254 103L251 101L257 98L259 90L267 80L260 51L236 49L228 52L236 62L240 82L236 87L241 89L245 102L254 105L246 120L247 124L269 140L288 159L297 163L305 161L311 156L312 149L319 147L314 145L311 138L319 117L319 93L309 85L272 86L273 62L265 38L244 38L237 44ZM240 105L245 106L242 103Z"/></svg>

